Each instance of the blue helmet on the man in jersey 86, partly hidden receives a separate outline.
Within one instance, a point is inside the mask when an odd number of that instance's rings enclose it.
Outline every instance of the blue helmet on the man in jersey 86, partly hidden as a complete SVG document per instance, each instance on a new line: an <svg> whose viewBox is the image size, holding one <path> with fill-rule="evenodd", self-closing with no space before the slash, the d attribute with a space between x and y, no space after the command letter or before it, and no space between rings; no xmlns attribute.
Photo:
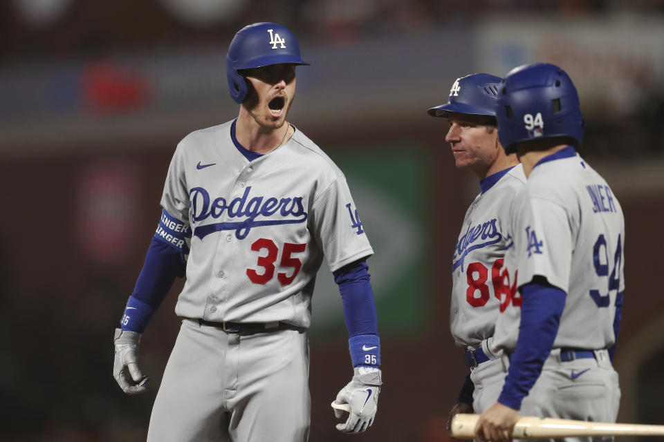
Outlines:
<svg viewBox="0 0 664 442"><path fill-rule="evenodd" d="M496 116L496 95L501 77L472 74L457 78L450 89L448 102L430 108L432 117L448 117L450 113Z"/></svg>

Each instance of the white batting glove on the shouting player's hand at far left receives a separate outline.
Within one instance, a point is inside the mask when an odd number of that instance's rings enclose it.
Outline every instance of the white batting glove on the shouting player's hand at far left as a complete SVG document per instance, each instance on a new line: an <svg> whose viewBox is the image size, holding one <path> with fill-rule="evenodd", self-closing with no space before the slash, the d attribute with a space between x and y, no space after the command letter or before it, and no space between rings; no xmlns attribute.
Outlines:
<svg viewBox="0 0 664 442"><path fill-rule="evenodd" d="M140 333L116 329L113 336L113 345L116 347L116 357L113 360L113 377L118 381L122 391L127 394L139 394L147 391L149 378L143 376L138 368L136 352Z"/></svg>

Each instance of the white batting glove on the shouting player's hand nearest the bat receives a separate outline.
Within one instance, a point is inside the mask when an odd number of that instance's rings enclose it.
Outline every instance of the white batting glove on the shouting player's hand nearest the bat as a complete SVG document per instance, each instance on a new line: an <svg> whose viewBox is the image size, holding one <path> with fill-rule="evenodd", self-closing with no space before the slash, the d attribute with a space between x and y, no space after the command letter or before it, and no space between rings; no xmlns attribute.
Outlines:
<svg viewBox="0 0 664 442"><path fill-rule="evenodd" d="M378 410L378 394L382 384L379 368L356 367L353 373L353 379L335 399L335 403L347 403L351 407L347 421L336 425L337 430L344 433L361 433L371 427ZM334 415L340 418L343 411L335 408Z"/></svg>

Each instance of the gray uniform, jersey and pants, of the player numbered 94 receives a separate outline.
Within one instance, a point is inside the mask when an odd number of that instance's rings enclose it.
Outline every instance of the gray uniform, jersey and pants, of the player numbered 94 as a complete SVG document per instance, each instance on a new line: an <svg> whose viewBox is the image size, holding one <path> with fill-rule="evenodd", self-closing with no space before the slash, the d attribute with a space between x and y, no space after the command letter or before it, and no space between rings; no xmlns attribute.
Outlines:
<svg viewBox="0 0 664 442"><path fill-rule="evenodd" d="M508 229L513 242L506 253L493 352L515 351L522 301L517 287L544 276L566 292L553 349L519 414L615 422L620 385L607 348L615 342L616 296L625 289L625 223L616 196L567 147L533 168L514 200ZM586 355L577 356L570 348ZM510 359L503 356L501 361L507 369ZM502 388L504 376L495 378ZM613 440L565 438L591 439Z"/></svg>

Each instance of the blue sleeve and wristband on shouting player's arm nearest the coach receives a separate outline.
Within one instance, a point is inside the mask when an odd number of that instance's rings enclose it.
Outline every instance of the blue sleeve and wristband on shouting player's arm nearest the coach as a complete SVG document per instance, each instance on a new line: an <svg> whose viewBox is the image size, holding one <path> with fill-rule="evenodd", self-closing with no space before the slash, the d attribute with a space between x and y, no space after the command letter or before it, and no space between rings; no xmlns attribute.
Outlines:
<svg viewBox="0 0 664 442"><path fill-rule="evenodd" d="M344 304L353 367L380 365L378 316L366 261L362 258L333 272Z"/></svg>

